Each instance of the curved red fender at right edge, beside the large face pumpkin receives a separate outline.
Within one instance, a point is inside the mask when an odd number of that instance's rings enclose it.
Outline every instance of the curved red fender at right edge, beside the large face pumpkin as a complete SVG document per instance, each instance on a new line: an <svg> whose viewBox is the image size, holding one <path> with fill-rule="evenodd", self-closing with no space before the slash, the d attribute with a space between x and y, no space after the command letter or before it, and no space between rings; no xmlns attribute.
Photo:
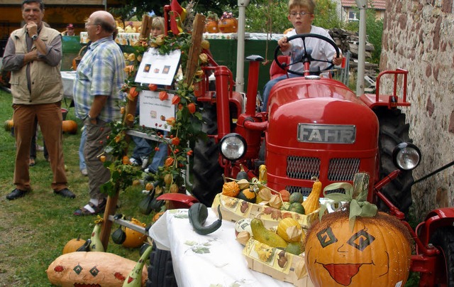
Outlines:
<svg viewBox="0 0 454 287"><path fill-rule="evenodd" d="M440 227L452 227L454 224L454 207L438 208L428 212L426 220L416 227L418 235L424 246L430 242L431 235Z"/></svg>

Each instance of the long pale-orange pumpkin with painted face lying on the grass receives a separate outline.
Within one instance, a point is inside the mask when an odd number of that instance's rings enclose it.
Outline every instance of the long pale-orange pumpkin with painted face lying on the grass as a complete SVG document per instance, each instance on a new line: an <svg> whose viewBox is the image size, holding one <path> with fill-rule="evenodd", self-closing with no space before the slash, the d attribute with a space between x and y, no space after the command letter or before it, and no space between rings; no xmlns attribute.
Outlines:
<svg viewBox="0 0 454 287"><path fill-rule="evenodd" d="M107 252L72 252L59 256L46 273L55 286L121 287L137 262ZM148 277L142 269L142 286Z"/></svg>

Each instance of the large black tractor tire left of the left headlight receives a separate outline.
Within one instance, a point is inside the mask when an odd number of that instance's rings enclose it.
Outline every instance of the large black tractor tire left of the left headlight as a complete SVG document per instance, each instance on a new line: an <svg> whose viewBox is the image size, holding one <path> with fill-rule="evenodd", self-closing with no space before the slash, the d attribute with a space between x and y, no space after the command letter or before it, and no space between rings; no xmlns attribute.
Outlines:
<svg viewBox="0 0 454 287"><path fill-rule="evenodd" d="M202 121L202 131L209 135L217 134L216 105L203 104ZM218 144L214 139L196 141L192 168L192 193L206 206L211 206L216 194L222 190L223 168L219 166L218 158Z"/></svg>

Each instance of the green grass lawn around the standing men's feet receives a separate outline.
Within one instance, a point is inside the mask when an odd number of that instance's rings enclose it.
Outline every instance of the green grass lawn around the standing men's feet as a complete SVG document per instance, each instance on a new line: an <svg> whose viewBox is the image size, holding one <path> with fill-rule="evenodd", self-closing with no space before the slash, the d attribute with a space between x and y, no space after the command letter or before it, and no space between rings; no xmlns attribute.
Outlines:
<svg viewBox="0 0 454 287"><path fill-rule="evenodd" d="M11 119L11 94L0 90L0 120ZM68 107L70 101L63 102ZM67 119L77 121L79 131L75 135L64 135L65 164L70 190L77 197L67 199L52 193L52 172L43 152L38 152L36 165L30 168L33 192L18 200L6 200L13 190L14 138L9 131L0 131L0 286L50 286L45 270L62 254L70 240L81 234L88 239L92 234L95 217L75 217L74 210L87 204L88 179L79 171L79 140L81 121L75 118L74 108L69 109ZM42 137L38 144L43 144ZM118 213L128 218L135 217L150 224L152 216L142 215L138 203L142 199L142 188L134 187L122 191ZM118 228L114 224L112 231ZM133 261L139 259L138 249L126 249L109 242L111 253Z"/></svg>

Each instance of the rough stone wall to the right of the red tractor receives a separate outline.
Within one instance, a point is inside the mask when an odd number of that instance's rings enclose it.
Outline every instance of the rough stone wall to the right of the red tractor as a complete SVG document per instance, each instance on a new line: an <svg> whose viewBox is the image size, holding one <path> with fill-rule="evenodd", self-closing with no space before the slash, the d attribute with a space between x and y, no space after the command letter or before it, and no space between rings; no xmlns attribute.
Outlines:
<svg viewBox="0 0 454 287"><path fill-rule="evenodd" d="M410 137L423 160L415 180L454 161L454 1L387 0L380 70L409 70L404 108ZM392 83L381 89L392 92ZM454 206L454 167L413 186L421 220L429 210Z"/></svg>

